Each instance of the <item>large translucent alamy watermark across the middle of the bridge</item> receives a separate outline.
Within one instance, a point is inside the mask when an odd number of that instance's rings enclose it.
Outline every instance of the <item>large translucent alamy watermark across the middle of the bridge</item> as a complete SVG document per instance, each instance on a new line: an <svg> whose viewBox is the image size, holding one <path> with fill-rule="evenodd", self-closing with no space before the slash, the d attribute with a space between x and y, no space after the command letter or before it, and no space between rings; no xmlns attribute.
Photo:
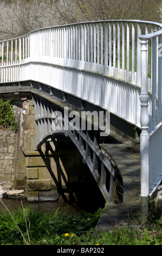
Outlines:
<svg viewBox="0 0 162 256"><path fill-rule="evenodd" d="M110 113L109 111L70 111L64 107L63 114L54 111L51 114L53 131L85 131L99 130L100 136L108 136L110 132Z"/></svg>

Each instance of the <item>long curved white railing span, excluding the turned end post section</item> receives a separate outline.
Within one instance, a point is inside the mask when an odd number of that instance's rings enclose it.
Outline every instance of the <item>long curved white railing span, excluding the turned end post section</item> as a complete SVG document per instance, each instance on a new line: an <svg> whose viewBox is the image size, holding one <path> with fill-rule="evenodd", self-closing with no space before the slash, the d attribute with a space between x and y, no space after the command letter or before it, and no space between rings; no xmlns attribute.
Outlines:
<svg viewBox="0 0 162 256"><path fill-rule="evenodd" d="M146 21L83 22L38 29L20 38L4 40L0 42L0 80L5 83L31 79L47 83L140 126L139 35L160 28L159 23ZM152 88L152 45L150 41L147 46L149 88ZM64 71L66 81L59 66L73 68L73 74L70 69ZM89 75L79 70L88 71Z"/></svg>

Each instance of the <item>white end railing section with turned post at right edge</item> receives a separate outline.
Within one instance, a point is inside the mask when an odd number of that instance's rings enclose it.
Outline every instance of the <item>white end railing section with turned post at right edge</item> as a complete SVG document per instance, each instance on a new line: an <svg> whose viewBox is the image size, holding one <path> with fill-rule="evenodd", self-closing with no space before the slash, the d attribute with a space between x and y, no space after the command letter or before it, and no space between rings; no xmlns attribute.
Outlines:
<svg viewBox="0 0 162 256"><path fill-rule="evenodd" d="M141 40L141 195L153 194L162 180L162 29ZM147 52L151 41L151 87Z"/></svg>

